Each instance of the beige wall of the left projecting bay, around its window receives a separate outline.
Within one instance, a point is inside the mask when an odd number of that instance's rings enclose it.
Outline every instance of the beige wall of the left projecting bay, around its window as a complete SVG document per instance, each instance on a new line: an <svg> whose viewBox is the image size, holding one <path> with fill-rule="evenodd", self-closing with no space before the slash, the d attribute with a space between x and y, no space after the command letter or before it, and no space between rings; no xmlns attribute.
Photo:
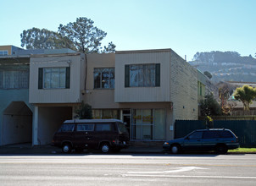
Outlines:
<svg viewBox="0 0 256 186"><path fill-rule="evenodd" d="M85 57L81 54L31 57L30 103L75 103L81 101ZM38 89L38 68L69 67L69 89Z"/></svg>

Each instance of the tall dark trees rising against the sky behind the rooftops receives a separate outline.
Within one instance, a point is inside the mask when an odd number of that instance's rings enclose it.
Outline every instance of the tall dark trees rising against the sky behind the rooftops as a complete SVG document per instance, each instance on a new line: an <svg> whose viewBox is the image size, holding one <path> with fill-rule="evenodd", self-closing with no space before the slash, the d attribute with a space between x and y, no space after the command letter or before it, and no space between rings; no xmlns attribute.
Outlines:
<svg viewBox="0 0 256 186"><path fill-rule="evenodd" d="M24 30L21 37L21 47L27 49L70 48L78 52L114 52L115 45L109 42L108 47L101 47L107 33L95 27L91 19L77 18L75 22L59 25L58 31L32 28Z"/></svg>

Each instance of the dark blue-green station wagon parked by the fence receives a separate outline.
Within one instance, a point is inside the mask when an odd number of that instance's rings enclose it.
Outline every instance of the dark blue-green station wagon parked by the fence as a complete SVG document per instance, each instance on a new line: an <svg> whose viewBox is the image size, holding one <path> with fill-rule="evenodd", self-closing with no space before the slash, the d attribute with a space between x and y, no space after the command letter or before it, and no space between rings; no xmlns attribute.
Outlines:
<svg viewBox="0 0 256 186"><path fill-rule="evenodd" d="M181 151L215 150L225 154L227 150L239 147L238 138L230 129L199 129L184 138L164 142L164 150L177 154Z"/></svg>

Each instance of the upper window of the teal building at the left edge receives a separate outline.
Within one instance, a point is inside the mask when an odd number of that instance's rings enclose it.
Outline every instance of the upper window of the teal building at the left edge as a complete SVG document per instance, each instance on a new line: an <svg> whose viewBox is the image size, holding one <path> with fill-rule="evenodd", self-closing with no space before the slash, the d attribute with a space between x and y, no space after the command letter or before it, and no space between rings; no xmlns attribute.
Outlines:
<svg viewBox="0 0 256 186"><path fill-rule="evenodd" d="M28 89L28 70L0 70L0 89Z"/></svg>

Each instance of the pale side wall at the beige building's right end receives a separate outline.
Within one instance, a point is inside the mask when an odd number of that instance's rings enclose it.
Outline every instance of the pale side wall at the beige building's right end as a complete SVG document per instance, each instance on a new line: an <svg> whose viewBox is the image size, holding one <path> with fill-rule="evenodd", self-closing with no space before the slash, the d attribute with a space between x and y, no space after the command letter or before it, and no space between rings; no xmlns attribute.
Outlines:
<svg viewBox="0 0 256 186"><path fill-rule="evenodd" d="M170 101L175 119L198 119L198 72L171 51Z"/></svg>

